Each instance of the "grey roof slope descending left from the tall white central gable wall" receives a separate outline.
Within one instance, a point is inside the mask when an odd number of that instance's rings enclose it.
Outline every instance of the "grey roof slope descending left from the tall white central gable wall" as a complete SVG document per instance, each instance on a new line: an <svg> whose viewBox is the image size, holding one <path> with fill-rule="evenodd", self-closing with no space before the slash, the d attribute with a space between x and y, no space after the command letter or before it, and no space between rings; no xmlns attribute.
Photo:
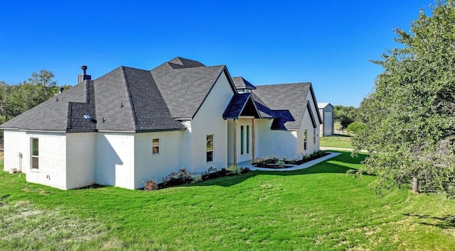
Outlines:
<svg viewBox="0 0 455 251"><path fill-rule="evenodd" d="M152 69L151 76L171 116L184 119L193 118L223 71L227 72L224 65L175 68L166 62Z"/></svg>

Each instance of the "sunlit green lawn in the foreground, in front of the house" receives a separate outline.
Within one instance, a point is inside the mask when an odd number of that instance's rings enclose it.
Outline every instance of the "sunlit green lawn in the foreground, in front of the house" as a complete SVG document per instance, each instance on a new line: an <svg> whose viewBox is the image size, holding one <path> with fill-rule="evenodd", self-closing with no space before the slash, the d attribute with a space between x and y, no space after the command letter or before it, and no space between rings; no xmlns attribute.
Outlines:
<svg viewBox="0 0 455 251"><path fill-rule="evenodd" d="M294 172L159 191L60 191L0 174L1 250L455 250L455 203L375 196L344 152Z"/></svg>

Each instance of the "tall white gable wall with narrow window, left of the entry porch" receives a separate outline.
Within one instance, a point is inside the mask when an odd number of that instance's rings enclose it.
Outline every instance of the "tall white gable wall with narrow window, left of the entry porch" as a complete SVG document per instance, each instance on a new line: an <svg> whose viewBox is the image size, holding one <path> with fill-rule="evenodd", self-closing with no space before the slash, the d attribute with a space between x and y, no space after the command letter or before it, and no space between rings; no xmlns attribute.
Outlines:
<svg viewBox="0 0 455 251"><path fill-rule="evenodd" d="M203 172L208 167L217 169L228 165L228 121L223 112L234 95L228 78L223 73L214 84L203 105L191 121L191 169ZM213 134L213 162L206 162L206 137ZM188 162L188 161L185 161Z"/></svg>

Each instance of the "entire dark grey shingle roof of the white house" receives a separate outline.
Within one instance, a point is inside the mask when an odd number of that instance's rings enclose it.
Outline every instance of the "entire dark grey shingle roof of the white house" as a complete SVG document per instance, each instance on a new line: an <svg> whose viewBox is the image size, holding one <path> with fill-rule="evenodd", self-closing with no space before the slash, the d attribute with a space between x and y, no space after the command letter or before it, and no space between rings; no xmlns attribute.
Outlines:
<svg viewBox="0 0 455 251"><path fill-rule="evenodd" d="M151 71L119 67L98 79L81 82L0 128L66 132L184 130L178 119L196 115L223 72L232 94L236 85L256 88L242 77L231 81L224 65L205 67L198 61L176 57ZM274 118L272 129L298 129L308 91L313 94L310 83L259 86L252 94L233 95L223 116Z"/></svg>

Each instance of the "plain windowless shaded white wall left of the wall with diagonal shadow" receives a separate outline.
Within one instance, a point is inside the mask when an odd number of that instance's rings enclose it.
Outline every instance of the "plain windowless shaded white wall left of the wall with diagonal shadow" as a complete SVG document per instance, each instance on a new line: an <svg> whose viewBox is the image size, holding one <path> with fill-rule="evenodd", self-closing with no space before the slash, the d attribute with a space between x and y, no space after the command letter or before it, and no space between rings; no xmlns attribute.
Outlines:
<svg viewBox="0 0 455 251"><path fill-rule="evenodd" d="M67 189L88 186L96 182L96 135L97 133L66 134Z"/></svg>

